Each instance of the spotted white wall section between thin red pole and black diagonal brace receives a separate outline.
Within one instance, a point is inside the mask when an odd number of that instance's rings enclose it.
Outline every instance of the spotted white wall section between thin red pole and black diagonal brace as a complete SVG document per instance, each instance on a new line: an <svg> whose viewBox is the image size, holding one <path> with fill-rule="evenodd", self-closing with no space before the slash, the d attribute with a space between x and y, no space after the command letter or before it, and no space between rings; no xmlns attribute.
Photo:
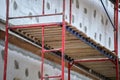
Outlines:
<svg viewBox="0 0 120 80"><path fill-rule="evenodd" d="M75 16L75 22L73 23L79 30L85 32L88 36L95 39L98 43L113 50L113 28L102 8L99 0L78 0L79 9L76 9L76 1L73 3L73 15ZM110 3L109 3L110 5ZM109 6L107 6L109 7ZM84 12L86 9L86 13ZM94 11L96 10L96 17L94 17ZM112 9L110 9L112 11ZM79 11L79 12L78 12ZM108 9L108 12L109 9ZM111 13L109 13L111 15ZM103 18L103 20L102 20ZM106 20L108 24L106 25ZM103 21L103 22L102 22ZM80 27L82 23L82 27ZM85 31L86 27L86 31ZM96 38L95 38L96 35ZM101 40L100 40L101 36ZM108 39L111 38L111 46L108 45Z"/></svg>

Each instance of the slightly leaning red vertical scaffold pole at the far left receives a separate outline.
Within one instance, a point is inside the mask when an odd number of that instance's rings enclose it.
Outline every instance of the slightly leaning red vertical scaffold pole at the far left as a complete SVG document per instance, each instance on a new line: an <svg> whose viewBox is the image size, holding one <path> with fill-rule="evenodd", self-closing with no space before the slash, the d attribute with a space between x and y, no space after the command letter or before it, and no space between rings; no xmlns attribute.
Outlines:
<svg viewBox="0 0 120 80"><path fill-rule="evenodd" d="M7 77L7 61L8 61L8 17L9 17L9 0L6 0L6 26L5 26L5 51L4 51L4 73L3 80Z"/></svg>

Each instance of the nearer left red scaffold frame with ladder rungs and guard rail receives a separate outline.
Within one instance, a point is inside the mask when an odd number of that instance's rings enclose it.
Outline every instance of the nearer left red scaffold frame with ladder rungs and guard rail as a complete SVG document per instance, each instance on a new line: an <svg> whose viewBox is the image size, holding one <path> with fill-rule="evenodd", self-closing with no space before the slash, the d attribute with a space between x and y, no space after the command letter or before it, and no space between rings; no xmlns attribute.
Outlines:
<svg viewBox="0 0 120 80"><path fill-rule="evenodd" d="M9 17L9 0L6 0L6 36L5 36L5 56L4 56L4 75L3 80L6 80L7 77L7 59L8 59L8 31L9 29L19 29L19 28L35 28L35 27L42 27L42 59L41 59L41 80L44 80L45 78L60 78L61 80L64 80L64 50L65 50L65 0L63 0L63 12L57 13L57 14L45 14L45 0L42 1L42 15L34 15L34 16L18 16L18 17ZM42 24L31 24L31 25L14 25L9 26L9 20L10 19L22 19L22 18L30 18L30 17L44 17L44 16L54 16L54 15L62 15L62 22L61 23L42 23ZM60 25L62 27L62 44L61 48L59 49L52 49L52 50L46 50L44 48L44 28L45 27L51 27L51 26L57 26ZM59 76L45 76L44 75L44 54L46 52L53 52L53 51L61 51L61 75Z"/></svg>

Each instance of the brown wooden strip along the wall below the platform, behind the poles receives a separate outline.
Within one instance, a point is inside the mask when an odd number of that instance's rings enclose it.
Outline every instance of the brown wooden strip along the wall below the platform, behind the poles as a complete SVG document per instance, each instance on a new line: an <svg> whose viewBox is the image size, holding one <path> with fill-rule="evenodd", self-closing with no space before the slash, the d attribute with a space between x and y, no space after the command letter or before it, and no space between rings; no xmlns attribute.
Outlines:
<svg viewBox="0 0 120 80"><path fill-rule="evenodd" d="M0 39L4 40L5 32L0 30L0 34L2 34L2 35L0 35ZM22 49L30 51L30 52L38 55L38 56L41 56L40 48L38 48L38 47L36 47L36 46L34 46L34 45L24 41L24 40L21 40L21 39L15 37L13 35L9 35L9 42L11 44L15 45L15 46L18 46L18 47L20 47ZM52 62L55 62L57 64L61 64L60 59L58 57L53 56L52 54L45 54L45 58L52 61ZM66 63L65 66L67 67L67 63ZM95 76L92 76L89 73L87 73L85 71L82 71L82 70L80 70L80 69L78 69L76 67L72 67L72 70L75 71L75 72L78 72L80 74L83 74L83 75L85 75L87 77L90 77L90 78L92 78L94 80L98 80Z"/></svg>

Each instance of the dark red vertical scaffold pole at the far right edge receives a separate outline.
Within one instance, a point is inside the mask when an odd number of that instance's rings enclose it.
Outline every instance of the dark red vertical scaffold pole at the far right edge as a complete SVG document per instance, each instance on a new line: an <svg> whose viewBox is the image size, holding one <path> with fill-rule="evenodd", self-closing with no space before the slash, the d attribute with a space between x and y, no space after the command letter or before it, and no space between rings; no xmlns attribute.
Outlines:
<svg viewBox="0 0 120 80"><path fill-rule="evenodd" d="M116 59L116 80L119 80L119 60L118 60L118 4L119 0L116 0L115 9L114 9L114 24L115 24L115 31L114 31L114 49L117 56Z"/></svg>

